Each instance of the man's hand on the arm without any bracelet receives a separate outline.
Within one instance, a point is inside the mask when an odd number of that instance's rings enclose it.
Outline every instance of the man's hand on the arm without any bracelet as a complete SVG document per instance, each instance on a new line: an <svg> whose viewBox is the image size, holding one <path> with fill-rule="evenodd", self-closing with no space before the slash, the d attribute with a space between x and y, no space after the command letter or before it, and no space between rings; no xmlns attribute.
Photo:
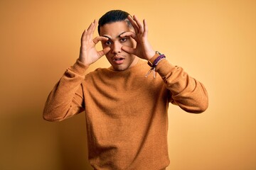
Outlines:
<svg viewBox="0 0 256 170"><path fill-rule="evenodd" d="M100 42L102 40L108 40L108 38L102 36L98 36L92 39L96 27L97 22L93 21L93 23L90 24L89 28L87 28L87 30L82 33L80 56L78 60L80 60L80 62L87 66L96 62L100 59L100 57L110 51L110 47L106 47L101 51L96 50L95 45L97 44L97 42Z"/></svg>

